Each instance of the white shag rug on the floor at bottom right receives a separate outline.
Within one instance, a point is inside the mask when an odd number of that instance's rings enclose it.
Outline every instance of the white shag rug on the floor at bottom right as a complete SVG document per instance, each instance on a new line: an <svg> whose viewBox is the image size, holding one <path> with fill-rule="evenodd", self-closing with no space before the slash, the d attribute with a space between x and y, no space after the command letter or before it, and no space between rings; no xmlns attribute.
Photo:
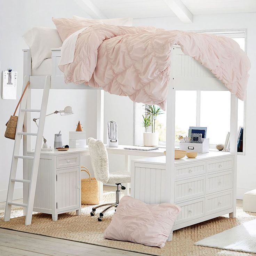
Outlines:
<svg viewBox="0 0 256 256"><path fill-rule="evenodd" d="M194 245L256 253L256 219L202 239Z"/></svg>

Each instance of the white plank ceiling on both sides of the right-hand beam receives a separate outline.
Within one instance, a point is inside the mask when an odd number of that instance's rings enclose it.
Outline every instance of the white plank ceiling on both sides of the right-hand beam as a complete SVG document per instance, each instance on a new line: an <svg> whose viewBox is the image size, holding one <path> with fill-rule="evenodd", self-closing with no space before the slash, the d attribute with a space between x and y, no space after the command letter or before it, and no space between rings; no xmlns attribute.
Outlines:
<svg viewBox="0 0 256 256"><path fill-rule="evenodd" d="M193 15L256 12L256 0L181 0ZM91 0L107 17L175 16L164 0Z"/></svg>

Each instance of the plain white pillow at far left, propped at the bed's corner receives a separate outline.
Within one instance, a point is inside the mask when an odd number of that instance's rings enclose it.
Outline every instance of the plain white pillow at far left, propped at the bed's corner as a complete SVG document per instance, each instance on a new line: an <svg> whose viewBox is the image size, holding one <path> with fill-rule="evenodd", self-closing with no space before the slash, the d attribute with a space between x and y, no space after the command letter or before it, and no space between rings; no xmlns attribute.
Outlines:
<svg viewBox="0 0 256 256"><path fill-rule="evenodd" d="M31 50L32 69L37 69L44 59L51 58L51 48L62 46L57 29L33 27L23 35Z"/></svg>

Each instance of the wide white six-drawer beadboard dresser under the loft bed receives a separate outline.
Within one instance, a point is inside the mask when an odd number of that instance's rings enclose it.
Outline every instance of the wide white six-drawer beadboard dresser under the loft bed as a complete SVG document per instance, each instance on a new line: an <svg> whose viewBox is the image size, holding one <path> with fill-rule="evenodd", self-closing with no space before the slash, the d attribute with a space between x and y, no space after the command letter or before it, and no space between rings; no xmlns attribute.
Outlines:
<svg viewBox="0 0 256 256"><path fill-rule="evenodd" d="M131 196L146 203L166 202L165 186L171 186L175 203L181 207L173 230L233 212L233 163L229 152L210 151L197 158L175 160L166 181L166 157L133 160ZM231 215L232 216L232 215Z"/></svg>

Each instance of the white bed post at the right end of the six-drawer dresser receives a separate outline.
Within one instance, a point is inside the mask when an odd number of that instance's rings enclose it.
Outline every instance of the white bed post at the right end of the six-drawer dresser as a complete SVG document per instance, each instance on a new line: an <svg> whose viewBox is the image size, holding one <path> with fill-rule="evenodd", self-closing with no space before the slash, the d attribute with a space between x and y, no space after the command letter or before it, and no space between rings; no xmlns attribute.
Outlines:
<svg viewBox="0 0 256 256"><path fill-rule="evenodd" d="M234 173L233 173L233 212L229 214L230 218L235 218L237 207L237 109L238 98L231 94L230 104L230 153L234 154Z"/></svg>

